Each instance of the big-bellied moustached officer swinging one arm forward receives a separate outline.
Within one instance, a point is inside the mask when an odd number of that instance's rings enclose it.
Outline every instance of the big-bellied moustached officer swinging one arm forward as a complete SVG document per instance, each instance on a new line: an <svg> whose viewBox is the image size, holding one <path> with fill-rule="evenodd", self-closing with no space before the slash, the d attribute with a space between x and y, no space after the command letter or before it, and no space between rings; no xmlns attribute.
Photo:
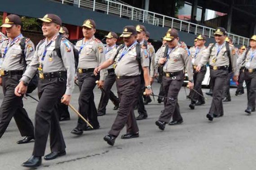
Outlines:
<svg viewBox="0 0 256 170"><path fill-rule="evenodd" d="M134 26L125 26L120 37L124 39L124 46L119 47L117 54L113 55L106 62L95 68L94 73L109 67L116 62L115 74L117 76L117 90L120 99L120 108L117 112L108 135L104 140L114 145L116 137L127 125L127 134L122 135L122 139L139 137L139 129L133 112L133 106L140 94L141 71L143 70L145 93L152 93L150 86L149 56L145 48L141 48L136 40L137 31ZM139 56L140 55L140 56Z"/></svg>

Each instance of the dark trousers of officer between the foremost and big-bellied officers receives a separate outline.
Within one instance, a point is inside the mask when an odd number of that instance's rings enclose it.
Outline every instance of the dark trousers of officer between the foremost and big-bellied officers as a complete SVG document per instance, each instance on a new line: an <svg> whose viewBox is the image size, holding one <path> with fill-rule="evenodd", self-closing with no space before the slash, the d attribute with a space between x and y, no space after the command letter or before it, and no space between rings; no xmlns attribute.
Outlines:
<svg viewBox="0 0 256 170"><path fill-rule="evenodd" d="M95 76L93 72L78 73L78 83L80 95L78 98L79 113L89 120L93 127L98 127L100 124L97 119L97 109L94 103L93 89L96 86L96 81L99 76ZM84 129L86 123L80 117L78 118L77 127Z"/></svg>

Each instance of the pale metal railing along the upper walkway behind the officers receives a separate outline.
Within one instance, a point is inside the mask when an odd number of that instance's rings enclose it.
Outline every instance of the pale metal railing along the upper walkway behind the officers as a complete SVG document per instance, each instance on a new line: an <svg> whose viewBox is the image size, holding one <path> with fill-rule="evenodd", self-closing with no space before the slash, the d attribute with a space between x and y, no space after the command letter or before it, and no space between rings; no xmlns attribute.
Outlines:
<svg viewBox="0 0 256 170"><path fill-rule="evenodd" d="M150 12L144 9L132 7L127 4L111 0L53 0L62 4L70 4L78 8L92 9L93 11L106 13L109 15L117 15L133 21L141 21L143 23L154 26L175 28L179 31L190 34L204 34L209 38L214 38L214 28L201 26L192 22L183 21L177 18L168 17L159 13ZM249 45L249 38L228 33L233 39L234 44Z"/></svg>

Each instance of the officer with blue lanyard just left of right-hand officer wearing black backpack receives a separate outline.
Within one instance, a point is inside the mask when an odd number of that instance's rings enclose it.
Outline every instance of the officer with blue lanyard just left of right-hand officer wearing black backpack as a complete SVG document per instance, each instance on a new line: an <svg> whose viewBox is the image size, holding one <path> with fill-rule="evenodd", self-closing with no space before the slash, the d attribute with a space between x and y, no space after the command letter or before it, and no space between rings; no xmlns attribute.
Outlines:
<svg viewBox="0 0 256 170"><path fill-rule="evenodd" d="M203 96L202 81L206 73L206 65L203 65L203 67L201 67L200 72L197 72L196 68L206 49L206 47L204 46L206 42L206 37L200 34L195 39L197 40L195 47L190 48L190 57L194 69L194 90ZM190 90L190 109L194 109L194 106L205 104L204 98L196 93L194 90Z"/></svg>

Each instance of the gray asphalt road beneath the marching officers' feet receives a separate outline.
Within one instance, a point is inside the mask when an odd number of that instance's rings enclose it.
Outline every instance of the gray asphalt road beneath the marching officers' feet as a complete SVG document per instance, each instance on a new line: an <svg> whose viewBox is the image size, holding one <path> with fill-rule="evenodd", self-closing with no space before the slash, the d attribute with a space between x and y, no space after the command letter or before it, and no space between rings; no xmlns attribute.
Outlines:
<svg viewBox="0 0 256 170"><path fill-rule="evenodd" d="M154 84L158 93L159 84ZM203 89L208 91L208 89ZM114 88L113 90L116 93ZM187 89L187 93L189 90ZM62 132L66 141L66 156L52 161L43 161L42 170L254 170L256 169L256 113L248 116L246 95L234 96L232 102L224 104L225 115L209 122L206 114L212 98L208 97L203 106L190 110L181 89L179 104L184 123L166 126L161 132L154 122L158 119L163 104L151 102L146 106L149 118L138 121L140 137L123 140L117 138L110 147L103 137L110 130L116 112L109 102L107 115L99 117L101 128L74 136L77 117L71 112L71 120L62 122ZM99 102L100 90L95 89L95 103ZM36 97L36 93L32 93ZM75 89L71 104L78 108L79 90ZM0 96L2 97L2 95ZM34 120L36 102L28 98L24 106ZM45 106L47 107L47 106ZM135 110L137 115L137 110ZM125 129L121 132L125 134ZM21 163L31 156L34 143L16 144L21 136L12 120L4 136L0 139L0 169L25 170ZM46 154L50 152L47 144Z"/></svg>

